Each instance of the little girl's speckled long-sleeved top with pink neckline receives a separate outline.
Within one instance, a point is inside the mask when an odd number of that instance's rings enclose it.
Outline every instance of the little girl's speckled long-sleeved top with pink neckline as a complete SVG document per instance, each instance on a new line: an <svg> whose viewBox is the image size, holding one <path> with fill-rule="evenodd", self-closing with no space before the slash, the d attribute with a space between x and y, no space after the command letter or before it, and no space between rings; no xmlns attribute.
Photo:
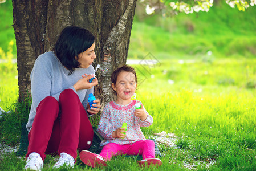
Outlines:
<svg viewBox="0 0 256 171"><path fill-rule="evenodd" d="M141 102L138 101L140 104ZM97 132L105 139L100 143L100 148L109 143L120 145L133 144L139 140L145 140L145 136L140 127L149 127L153 123L153 117L148 114L145 121L141 121L139 117L134 115L136 101L133 100L127 105L116 104L115 101L107 103L101 113ZM116 129L122 127L123 123L127 123L127 132L124 139L112 138L112 133Z"/></svg>

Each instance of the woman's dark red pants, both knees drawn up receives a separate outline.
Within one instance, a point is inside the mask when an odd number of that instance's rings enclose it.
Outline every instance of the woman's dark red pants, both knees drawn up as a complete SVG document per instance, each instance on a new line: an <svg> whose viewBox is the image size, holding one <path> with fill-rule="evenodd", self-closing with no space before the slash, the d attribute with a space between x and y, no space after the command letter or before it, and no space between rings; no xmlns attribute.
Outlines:
<svg viewBox="0 0 256 171"><path fill-rule="evenodd" d="M45 154L65 152L76 159L77 149L90 148L94 136L92 125L78 95L72 89L60 93L59 102L54 97L46 97L36 111L29 132L26 157L36 152L44 160Z"/></svg>

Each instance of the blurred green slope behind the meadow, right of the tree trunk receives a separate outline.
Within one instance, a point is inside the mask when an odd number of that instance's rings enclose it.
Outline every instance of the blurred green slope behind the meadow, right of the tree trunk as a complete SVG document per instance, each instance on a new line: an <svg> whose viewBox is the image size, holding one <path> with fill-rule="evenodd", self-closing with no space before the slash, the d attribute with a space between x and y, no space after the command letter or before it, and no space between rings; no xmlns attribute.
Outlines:
<svg viewBox="0 0 256 171"><path fill-rule="evenodd" d="M256 55L256 6L243 13L225 1L214 1L208 13L168 12L145 15L136 6L129 58L142 59L151 52L158 59L201 58L208 51L216 58L254 58Z"/></svg>

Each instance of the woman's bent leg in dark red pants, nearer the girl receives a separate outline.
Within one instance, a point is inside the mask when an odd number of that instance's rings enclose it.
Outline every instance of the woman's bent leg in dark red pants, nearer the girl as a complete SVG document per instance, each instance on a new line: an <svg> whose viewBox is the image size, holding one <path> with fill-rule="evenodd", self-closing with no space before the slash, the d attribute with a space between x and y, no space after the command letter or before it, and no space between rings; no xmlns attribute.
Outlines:
<svg viewBox="0 0 256 171"><path fill-rule="evenodd" d="M87 113L72 89L66 89L59 96L60 143L58 153L65 152L76 159L76 150L88 149L91 146L94 132Z"/></svg>

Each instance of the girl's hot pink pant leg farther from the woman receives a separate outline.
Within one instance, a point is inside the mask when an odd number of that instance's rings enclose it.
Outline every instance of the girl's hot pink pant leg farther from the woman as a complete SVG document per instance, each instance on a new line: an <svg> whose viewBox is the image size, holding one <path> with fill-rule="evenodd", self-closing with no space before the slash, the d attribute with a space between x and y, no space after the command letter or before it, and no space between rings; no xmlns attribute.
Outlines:
<svg viewBox="0 0 256 171"><path fill-rule="evenodd" d="M142 155L145 158L155 158L155 143L152 140L141 140L133 143L125 153L128 155Z"/></svg>

